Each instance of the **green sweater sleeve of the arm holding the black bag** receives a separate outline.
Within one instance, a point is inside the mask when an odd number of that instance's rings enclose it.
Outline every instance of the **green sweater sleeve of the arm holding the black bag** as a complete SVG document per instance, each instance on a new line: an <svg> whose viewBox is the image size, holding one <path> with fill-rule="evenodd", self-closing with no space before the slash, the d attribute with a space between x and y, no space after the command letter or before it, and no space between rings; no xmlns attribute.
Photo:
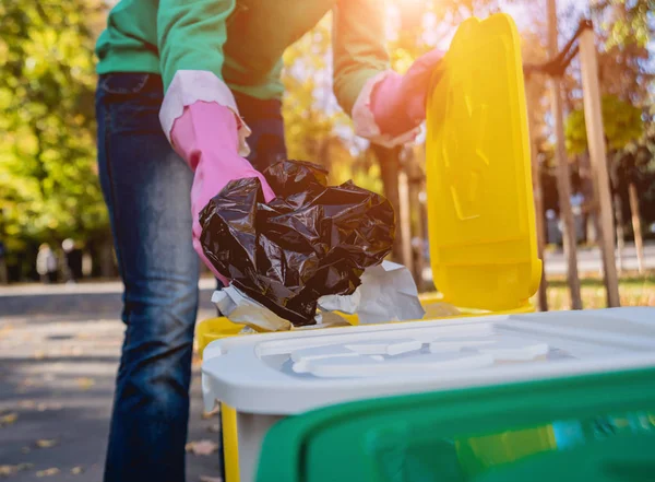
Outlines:
<svg viewBox="0 0 655 482"><path fill-rule="evenodd" d="M226 20L235 0L160 0L157 48L164 89L178 70L206 70L223 79Z"/></svg>

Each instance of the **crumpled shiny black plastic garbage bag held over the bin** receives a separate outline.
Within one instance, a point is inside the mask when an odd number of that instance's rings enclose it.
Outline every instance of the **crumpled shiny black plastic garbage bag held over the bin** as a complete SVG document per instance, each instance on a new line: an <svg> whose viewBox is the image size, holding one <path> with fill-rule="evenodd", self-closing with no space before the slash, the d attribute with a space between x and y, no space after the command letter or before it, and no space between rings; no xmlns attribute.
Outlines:
<svg viewBox="0 0 655 482"><path fill-rule="evenodd" d="M391 251L391 203L352 181L327 186L315 164L281 161L260 180L228 184L200 214L203 251L236 287L294 326L313 325L323 295L353 294Z"/></svg>

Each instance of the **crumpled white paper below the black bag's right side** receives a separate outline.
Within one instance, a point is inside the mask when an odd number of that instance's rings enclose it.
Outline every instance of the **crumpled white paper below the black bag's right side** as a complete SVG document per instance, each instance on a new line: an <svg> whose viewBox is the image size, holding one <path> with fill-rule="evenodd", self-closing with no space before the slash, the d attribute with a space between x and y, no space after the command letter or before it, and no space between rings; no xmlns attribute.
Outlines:
<svg viewBox="0 0 655 482"><path fill-rule="evenodd" d="M352 295L322 296L319 307L357 314L360 325L417 320L426 315L409 270L390 261L367 269L361 285Z"/></svg>

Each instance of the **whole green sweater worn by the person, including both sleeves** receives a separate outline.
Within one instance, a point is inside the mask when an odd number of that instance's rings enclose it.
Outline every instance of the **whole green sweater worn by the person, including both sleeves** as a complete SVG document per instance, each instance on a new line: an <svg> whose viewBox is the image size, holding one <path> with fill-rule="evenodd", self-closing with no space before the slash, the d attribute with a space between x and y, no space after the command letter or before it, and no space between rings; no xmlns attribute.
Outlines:
<svg viewBox="0 0 655 482"><path fill-rule="evenodd" d="M279 98L282 55L334 11L334 93L350 113L389 68L382 0L120 0L96 47L98 73L205 70L236 92Z"/></svg>

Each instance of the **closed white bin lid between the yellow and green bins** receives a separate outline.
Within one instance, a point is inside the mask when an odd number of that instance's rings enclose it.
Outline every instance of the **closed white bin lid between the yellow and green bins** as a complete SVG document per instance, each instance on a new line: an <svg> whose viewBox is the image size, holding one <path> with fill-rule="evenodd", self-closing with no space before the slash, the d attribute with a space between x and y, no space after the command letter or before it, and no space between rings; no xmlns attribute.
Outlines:
<svg viewBox="0 0 655 482"><path fill-rule="evenodd" d="M291 414L345 401L655 366L655 308L249 334L212 342L211 410Z"/></svg>

